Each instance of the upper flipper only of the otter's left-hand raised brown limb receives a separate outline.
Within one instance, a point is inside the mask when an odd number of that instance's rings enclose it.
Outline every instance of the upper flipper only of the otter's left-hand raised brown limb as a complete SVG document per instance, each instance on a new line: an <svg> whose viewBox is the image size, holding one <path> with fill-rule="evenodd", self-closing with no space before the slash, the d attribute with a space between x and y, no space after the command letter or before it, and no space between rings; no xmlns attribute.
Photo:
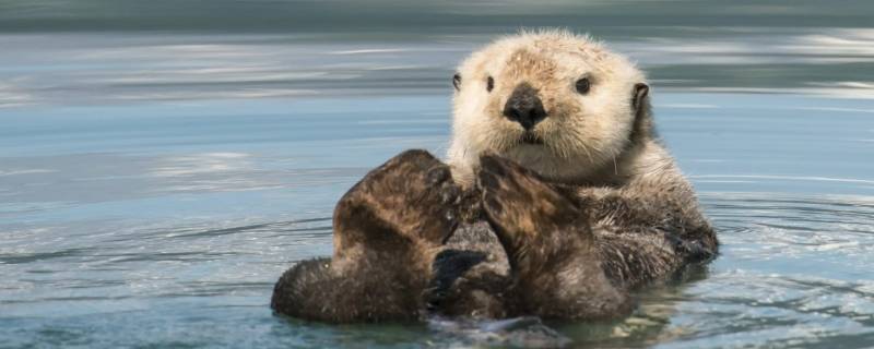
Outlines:
<svg viewBox="0 0 874 349"><path fill-rule="evenodd" d="M334 209L334 231L441 244L457 226L460 195L447 165L425 151L406 151L343 195Z"/></svg>

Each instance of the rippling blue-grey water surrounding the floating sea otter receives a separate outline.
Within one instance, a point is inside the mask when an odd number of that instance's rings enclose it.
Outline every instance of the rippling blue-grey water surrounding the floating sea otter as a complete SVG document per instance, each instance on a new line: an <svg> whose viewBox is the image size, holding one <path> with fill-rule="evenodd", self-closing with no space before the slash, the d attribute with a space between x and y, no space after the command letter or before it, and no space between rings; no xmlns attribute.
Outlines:
<svg viewBox="0 0 874 349"><path fill-rule="evenodd" d="M330 254L333 204L361 176L445 152L453 65L518 25L590 31L639 61L723 243L634 316L546 324L547 344L872 347L872 13L0 1L0 347L543 344L519 335L528 321L327 326L268 306L285 268Z"/></svg>

